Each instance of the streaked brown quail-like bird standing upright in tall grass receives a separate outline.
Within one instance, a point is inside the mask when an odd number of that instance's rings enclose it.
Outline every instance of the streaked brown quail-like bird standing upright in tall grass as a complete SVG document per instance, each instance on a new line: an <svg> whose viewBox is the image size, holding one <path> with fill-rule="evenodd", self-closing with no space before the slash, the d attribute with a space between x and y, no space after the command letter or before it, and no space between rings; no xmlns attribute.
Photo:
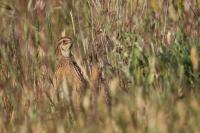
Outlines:
<svg viewBox="0 0 200 133"><path fill-rule="evenodd" d="M73 41L70 37L64 36L58 41L56 47L57 66L55 70L55 80L57 92L59 92L59 87L65 81L67 87L75 92L75 101L73 101L73 103L75 103L75 108L79 110L81 97L86 92L88 83L72 54L72 47ZM74 99L72 98L72 100Z"/></svg>

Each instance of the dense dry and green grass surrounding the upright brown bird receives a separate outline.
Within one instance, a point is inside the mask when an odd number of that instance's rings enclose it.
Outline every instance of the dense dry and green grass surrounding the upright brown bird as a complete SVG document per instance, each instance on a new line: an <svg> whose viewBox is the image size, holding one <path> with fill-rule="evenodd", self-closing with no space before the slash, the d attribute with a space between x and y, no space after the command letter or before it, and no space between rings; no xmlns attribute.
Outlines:
<svg viewBox="0 0 200 133"><path fill-rule="evenodd" d="M0 132L199 132L199 0L1 0ZM112 116L88 90L77 115L52 105L63 31L87 74L98 53ZM90 77L89 77L90 79Z"/></svg>

